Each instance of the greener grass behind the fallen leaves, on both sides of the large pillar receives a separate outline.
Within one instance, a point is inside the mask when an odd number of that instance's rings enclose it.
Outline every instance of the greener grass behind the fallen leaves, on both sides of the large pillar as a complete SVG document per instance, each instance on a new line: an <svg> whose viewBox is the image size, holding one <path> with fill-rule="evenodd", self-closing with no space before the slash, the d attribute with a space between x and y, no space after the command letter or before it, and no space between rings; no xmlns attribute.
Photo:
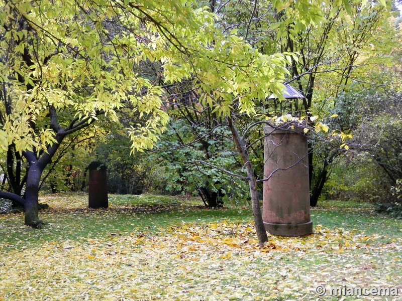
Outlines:
<svg viewBox="0 0 402 301"><path fill-rule="evenodd" d="M41 203L50 206L40 212L41 219L48 223L42 230L24 226L23 213L0 215L0 237L8 247L22 248L46 241L85 240L133 232L162 234L169 227L183 223L252 221L248 208L207 209L198 199L160 195L110 195L110 208L98 210L86 208L86 194L44 195ZM312 208L312 220L314 225L326 228L376 234L381 242L402 235L400 219L376 214L367 203L324 201Z"/></svg>

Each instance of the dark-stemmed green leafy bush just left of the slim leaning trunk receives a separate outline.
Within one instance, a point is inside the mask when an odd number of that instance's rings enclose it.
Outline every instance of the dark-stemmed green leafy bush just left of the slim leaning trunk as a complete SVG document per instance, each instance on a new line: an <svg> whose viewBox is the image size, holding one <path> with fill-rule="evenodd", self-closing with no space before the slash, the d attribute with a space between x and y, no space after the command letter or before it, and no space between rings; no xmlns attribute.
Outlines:
<svg viewBox="0 0 402 301"><path fill-rule="evenodd" d="M225 126L211 129L183 119L171 121L158 147L152 160L164 166L169 192L199 195L210 208L248 199L244 193L248 191L247 183L225 172L241 173Z"/></svg>

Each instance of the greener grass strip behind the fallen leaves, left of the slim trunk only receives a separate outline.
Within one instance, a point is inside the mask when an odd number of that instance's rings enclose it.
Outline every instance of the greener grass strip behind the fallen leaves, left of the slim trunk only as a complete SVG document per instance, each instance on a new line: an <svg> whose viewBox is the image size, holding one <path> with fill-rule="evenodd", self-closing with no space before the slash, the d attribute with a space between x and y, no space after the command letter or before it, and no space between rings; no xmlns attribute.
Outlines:
<svg viewBox="0 0 402 301"><path fill-rule="evenodd" d="M110 195L108 209L87 209L86 194L42 196L49 209L40 211L44 229L24 226L23 213L0 215L0 237L9 248L37 246L46 241L86 240L130 233L161 234L182 223L244 221L251 211L206 209L202 201L156 195Z"/></svg>

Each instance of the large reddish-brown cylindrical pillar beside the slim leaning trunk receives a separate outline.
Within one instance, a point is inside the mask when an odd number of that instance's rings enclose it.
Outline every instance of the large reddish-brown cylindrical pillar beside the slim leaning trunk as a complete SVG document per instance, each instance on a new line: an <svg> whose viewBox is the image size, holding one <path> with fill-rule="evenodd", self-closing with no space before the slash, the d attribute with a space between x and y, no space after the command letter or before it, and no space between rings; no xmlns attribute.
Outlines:
<svg viewBox="0 0 402 301"><path fill-rule="evenodd" d="M307 137L294 124L265 126L262 219L273 235L313 232Z"/></svg>

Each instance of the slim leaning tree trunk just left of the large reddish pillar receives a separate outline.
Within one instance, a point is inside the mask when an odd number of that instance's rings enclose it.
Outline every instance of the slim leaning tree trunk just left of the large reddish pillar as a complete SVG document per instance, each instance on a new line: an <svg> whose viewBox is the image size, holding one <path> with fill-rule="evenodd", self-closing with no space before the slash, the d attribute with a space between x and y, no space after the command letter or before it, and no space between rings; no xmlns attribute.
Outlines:
<svg viewBox="0 0 402 301"><path fill-rule="evenodd" d="M247 170L247 180L250 187L251 196L251 206L253 209L254 226L257 232L258 242L260 247L264 245L264 242L268 241L268 235L264 227L264 222L262 220L260 200L257 193L257 181L254 176L253 166L248 157L247 148L244 141L241 139L239 132L237 131L235 125L232 123L232 119L228 117L229 128L233 135L233 140L236 143L237 149L239 150L240 157L243 160L244 166Z"/></svg>

